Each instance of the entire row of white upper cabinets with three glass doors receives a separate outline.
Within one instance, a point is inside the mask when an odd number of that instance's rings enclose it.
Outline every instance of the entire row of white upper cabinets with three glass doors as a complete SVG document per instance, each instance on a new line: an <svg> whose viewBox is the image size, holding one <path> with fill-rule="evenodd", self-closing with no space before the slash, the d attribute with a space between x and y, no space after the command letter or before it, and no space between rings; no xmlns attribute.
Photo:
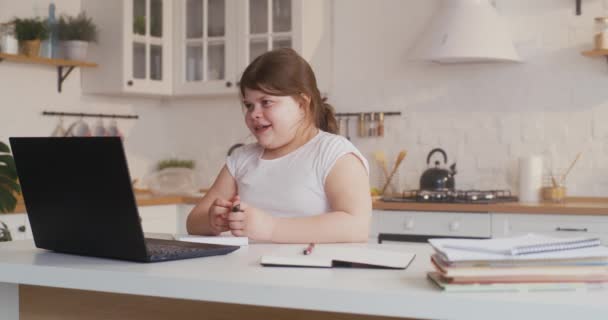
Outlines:
<svg viewBox="0 0 608 320"><path fill-rule="evenodd" d="M236 95L258 55L291 47L312 65L322 93L331 78L331 1L83 0L99 25L82 72L86 93ZM117 14L119 13L119 14Z"/></svg>

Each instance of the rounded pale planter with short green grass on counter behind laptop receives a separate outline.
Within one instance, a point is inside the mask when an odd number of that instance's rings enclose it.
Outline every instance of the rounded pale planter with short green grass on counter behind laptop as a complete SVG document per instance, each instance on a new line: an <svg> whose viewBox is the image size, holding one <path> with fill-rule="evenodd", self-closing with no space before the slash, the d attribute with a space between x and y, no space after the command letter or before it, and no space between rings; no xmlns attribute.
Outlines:
<svg viewBox="0 0 608 320"><path fill-rule="evenodd" d="M197 192L193 160L166 159L158 163L157 169L146 177L146 184L152 194L192 195Z"/></svg>

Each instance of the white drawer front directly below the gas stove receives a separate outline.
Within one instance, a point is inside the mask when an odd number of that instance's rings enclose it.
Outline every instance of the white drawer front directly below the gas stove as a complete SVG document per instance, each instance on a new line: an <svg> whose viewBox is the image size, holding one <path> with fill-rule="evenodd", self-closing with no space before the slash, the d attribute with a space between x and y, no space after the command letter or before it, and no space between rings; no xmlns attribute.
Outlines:
<svg viewBox="0 0 608 320"><path fill-rule="evenodd" d="M372 236L378 233L490 237L487 213L374 211Z"/></svg>

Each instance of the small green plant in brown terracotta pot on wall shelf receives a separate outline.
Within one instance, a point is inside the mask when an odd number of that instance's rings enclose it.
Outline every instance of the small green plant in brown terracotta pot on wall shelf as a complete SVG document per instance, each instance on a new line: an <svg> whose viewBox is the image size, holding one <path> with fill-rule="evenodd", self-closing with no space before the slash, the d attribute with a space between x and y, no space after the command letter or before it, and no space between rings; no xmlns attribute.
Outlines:
<svg viewBox="0 0 608 320"><path fill-rule="evenodd" d="M28 57L40 54L40 41L48 37L47 25L40 18L15 18L15 35L19 40L19 51Z"/></svg>

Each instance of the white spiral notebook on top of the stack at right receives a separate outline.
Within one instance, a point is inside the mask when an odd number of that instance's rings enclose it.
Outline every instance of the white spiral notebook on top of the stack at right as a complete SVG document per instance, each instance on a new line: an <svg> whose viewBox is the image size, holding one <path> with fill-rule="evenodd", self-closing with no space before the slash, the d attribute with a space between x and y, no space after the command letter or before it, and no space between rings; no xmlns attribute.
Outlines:
<svg viewBox="0 0 608 320"><path fill-rule="evenodd" d="M450 253L456 257L459 253L463 253L463 251L490 255L519 256L597 247L601 244L601 241L599 238L558 238L539 234L527 234L511 238L483 240L429 239L429 243L436 251L446 256L449 260L453 260L450 258Z"/></svg>

